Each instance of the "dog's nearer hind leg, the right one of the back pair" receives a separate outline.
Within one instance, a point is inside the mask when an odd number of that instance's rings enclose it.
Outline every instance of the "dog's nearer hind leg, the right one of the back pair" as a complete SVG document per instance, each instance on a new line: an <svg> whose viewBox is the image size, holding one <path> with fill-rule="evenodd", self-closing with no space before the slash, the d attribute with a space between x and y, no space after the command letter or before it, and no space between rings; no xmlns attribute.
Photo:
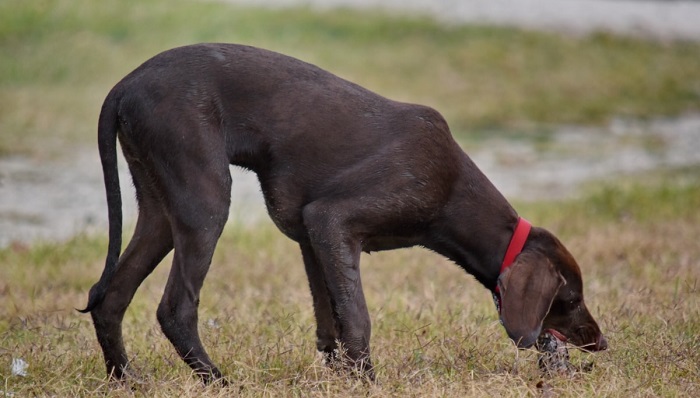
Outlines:
<svg viewBox="0 0 700 398"><path fill-rule="evenodd" d="M208 383L221 379L221 372L202 346L197 308L216 243L228 219L231 175L225 160L204 164L183 161L170 167L174 178L167 197L175 252L158 306L158 321L180 357Z"/></svg>

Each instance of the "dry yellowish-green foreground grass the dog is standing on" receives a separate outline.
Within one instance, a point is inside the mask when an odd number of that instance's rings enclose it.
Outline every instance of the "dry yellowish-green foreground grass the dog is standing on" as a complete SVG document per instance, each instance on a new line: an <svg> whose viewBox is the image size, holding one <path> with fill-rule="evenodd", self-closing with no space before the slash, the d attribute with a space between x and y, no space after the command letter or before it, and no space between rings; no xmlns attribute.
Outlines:
<svg viewBox="0 0 700 398"><path fill-rule="evenodd" d="M697 396L700 393L700 184L697 168L595 188L582 199L520 204L578 258L588 305L610 342L590 372L543 378L518 352L489 294L422 249L366 255L376 385L325 369L295 244L270 224L230 225L200 305L200 330L232 389L203 387L160 332L166 259L127 312L139 378L110 386L84 305L102 268L102 237L0 250L0 390L14 396ZM670 176L675 176L670 178ZM12 358L26 377L9 373Z"/></svg>

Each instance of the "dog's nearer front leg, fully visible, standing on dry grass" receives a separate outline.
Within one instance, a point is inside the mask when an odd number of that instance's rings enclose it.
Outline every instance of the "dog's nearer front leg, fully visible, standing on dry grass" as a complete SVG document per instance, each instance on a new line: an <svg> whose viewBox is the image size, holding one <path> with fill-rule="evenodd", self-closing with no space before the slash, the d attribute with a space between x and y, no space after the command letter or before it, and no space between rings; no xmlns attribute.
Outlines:
<svg viewBox="0 0 700 398"><path fill-rule="evenodd" d="M360 279L360 241L343 228L337 211L327 210L307 206L304 211L304 223L313 249L304 257L307 271L313 273L309 275L309 282L319 327L319 349L327 353L329 348L333 350L327 358L339 353L341 356L338 360L346 367L373 380L369 348L371 323ZM313 268L309 267L313 264L308 263L312 259L316 260L316 267ZM317 273L323 274L323 283ZM322 285L325 285L327 299L321 292ZM326 303L330 305L332 324L327 317ZM328 340L334 336L341 345L337 351L335 343L328 345Z"/></svg>

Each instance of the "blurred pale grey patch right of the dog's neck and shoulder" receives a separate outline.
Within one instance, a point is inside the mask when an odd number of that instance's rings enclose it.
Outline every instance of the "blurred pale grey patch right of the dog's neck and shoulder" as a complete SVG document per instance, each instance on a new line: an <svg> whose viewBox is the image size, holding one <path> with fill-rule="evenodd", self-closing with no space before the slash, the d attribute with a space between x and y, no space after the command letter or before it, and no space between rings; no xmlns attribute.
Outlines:
<svg viewBox="0 0 700 398"><path fill-rule="evenodd" d="M479 148L470 156L506 197L561 199L590 181L700 164L700 114L561 127L544 144L496 138Z"/></svg>

